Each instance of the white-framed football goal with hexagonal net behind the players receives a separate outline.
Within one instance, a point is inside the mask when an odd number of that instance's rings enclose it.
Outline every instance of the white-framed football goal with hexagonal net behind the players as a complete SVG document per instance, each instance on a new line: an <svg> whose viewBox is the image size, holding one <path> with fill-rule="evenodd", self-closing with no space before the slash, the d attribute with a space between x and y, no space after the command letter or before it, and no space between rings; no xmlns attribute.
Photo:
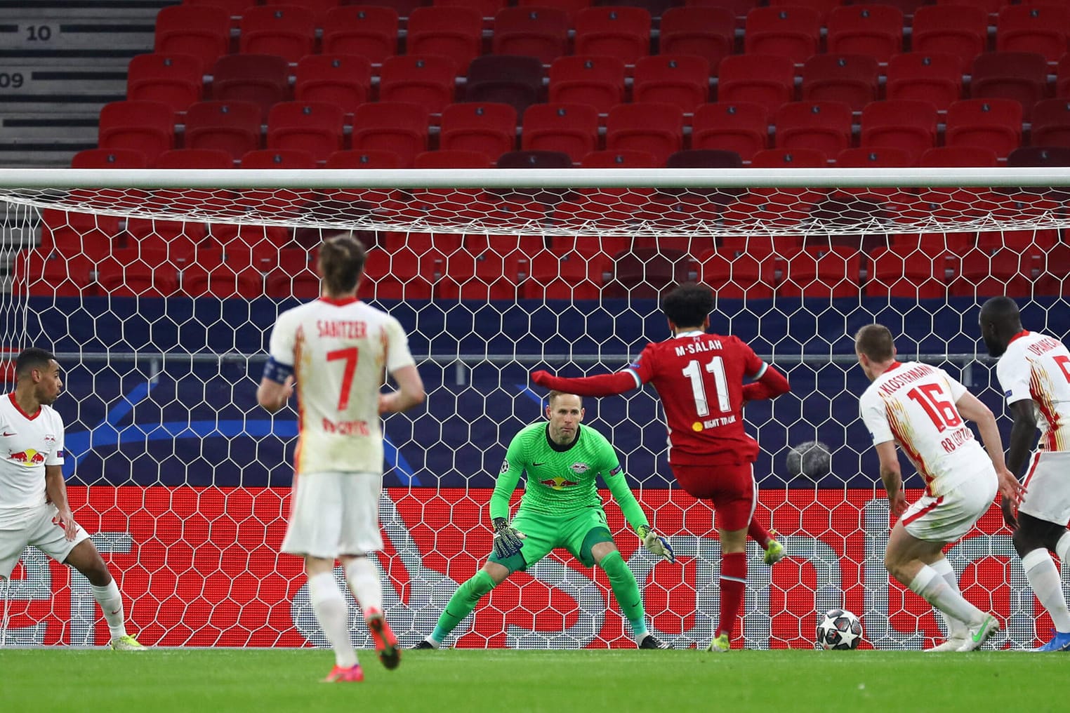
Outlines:
<svg viewBox="0 0 1070 713"><path fill-rule="evenodd" d="M75 516L146 644L325 644L300 562L278 554L294 414L255 400L275 316L318 294L323 234L365 242L361 295L401 321L428 386L426 408L385 422L379 563L402 645L489 553L505 446L540 417L529 372L629 363L668 336L659 294L693 280L715 292L713 328L792 383L745 413L760 509L788 552L766 568L749 545L746 646L811 648L815 613L843 607L870 646L927 648L937 620L882 563L888 505L853 335L886 324L901 354L948 368L997 415L979 305L1007 294L1027 328L1070 335L1070 169L4 169L0 200L0 347L60 358ZM585 405L679 559L656 563L607 506L651 631L705 646L719 544L710 509L672 482L656 398ZM830 472L788 469L808 440L829 446ZM1012 647L1046 632L998 508L948 557ZM37 554L3 589L0 644L106 639L88 583ZM452 642L605 648L626 633L605 576L552 556L498 587Z"/></svg>

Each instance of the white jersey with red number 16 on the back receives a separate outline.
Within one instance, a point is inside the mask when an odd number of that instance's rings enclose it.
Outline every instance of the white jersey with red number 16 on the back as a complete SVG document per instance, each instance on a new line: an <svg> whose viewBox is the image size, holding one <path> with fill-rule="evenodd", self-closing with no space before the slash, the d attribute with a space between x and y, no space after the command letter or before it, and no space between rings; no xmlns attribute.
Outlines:
<svg viewBox="0 0 1070 713"><path fill-rule="evenodd" d="M981 468L992 468L984 448L954 405L966 387L943 369L895 362L877 376L860 405L873 445L895 440L926 481L926 493L944 495Z"/></svg>

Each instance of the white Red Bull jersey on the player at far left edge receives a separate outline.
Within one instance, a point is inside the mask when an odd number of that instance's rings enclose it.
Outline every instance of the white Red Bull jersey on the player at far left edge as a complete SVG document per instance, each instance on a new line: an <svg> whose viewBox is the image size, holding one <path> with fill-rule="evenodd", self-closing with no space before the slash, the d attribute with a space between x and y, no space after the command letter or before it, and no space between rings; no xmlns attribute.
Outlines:
<svg viewBox="0 0 1070 713"><path fill-rule="evenodd" d="M46 502L45 466L63 465L63 419L51 406L29 415L0 397L0 508Z"/></svg>

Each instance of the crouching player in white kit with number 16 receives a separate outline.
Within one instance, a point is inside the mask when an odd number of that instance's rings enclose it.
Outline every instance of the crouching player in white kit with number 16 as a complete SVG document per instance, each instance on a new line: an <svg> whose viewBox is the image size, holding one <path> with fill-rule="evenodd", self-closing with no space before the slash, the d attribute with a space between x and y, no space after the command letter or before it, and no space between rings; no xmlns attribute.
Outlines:
<svg viewBox="0 0 1070 713"><path fill-rule="evenodd" d="M881 459L891 514L899 517L884 565L945 615L948 639L931 650L978 649L999 631L999 622L962 596L943 548L988 511L996 491L1012 502L1019 500L1021 486L1004 464L995 417L943 369L897 361L887 327L859 329L855 352L872 382L861 396L862 420ZM984 448L964 419L977 423ZM926 483L924 495L911 506L903 495L896 444Z"/></svg>

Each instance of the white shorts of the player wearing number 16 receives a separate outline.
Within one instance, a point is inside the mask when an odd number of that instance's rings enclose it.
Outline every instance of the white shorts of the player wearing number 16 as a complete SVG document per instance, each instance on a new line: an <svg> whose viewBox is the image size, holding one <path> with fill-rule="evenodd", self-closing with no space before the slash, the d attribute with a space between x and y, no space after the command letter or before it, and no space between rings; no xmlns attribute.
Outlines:
<svg viewBox="0 0 1070 713"><path fill-rule="evenodd" d="M996 471L989 464L974 478L939 497L919 498L899 522L918 540L956 542L989 511L998 490Z"/></svg>

